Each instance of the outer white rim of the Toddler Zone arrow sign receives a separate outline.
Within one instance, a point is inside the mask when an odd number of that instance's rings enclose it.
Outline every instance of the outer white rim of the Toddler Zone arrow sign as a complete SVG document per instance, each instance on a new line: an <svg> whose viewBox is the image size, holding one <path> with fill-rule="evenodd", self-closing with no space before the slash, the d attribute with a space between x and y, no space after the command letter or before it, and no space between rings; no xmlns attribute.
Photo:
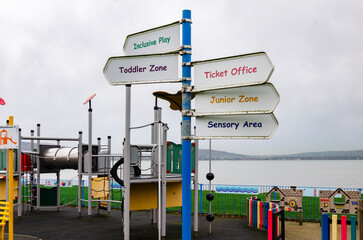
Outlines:
<svg viewBox="0 0 363 240"><path fill-rule="evenodd" d="M105 66L103 67L103 75L106 78L107 82L111 86L119 86L119 85L136 85L136 84L152 84L152 83L177 83L181 82L181 79L169 79L169 80L148 80L148 81L125 81L120 83L114 83L109 80L109 78L106 75L106 68L109 65L109 62L111 59L120 59L120 58L151 58L156 56L179 56L179 53L170 52L170 53L156 53L156 54L144 54L144 55L131 55L131 56L114 56L109 57L106 61Z"/></svg>

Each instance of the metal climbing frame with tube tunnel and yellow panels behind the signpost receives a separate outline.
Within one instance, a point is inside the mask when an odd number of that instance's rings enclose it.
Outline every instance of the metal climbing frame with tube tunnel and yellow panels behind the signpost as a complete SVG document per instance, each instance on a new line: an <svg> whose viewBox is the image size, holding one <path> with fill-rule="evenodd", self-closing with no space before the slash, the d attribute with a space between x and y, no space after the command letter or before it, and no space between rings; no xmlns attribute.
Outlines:
<svg viewBox="0 0 363 240"><path fill-rule="evenodd" d="M90 99L91 100L91 99ZM89 103L91 102L89 100ZM123 199L111 200L111 166L119 165L114 173L125 186L129 186L130 204L129 211L153 209L151 220L158 223L160 234L166 236L166 208L179 207L182 205L182 184L181 184L181 145L167 142L167 124L161 122L161 108L154 107L154 121L139 127L130 127L129 130L140 128L151 128L151 144L130 145L130 162L128 177L121 172L126 168L123 155L111 154L111 137L108 137L108 144L93 145L92 140L88 145L82 143L82 132L77 138L41 137L40 124L37 125L36 136L31 131L30 136L19 134L19 141L30 141L30 151L19 149L16 166L21 176L17 182L19 191L17 194L21 201L18 201L18 216L23 214L27 207L30 211L56 208L67 204L60 204L60 172L64 169L78 171L78 212L81 214L82 202L88 204L88 216L92 215L92 203L97 202L110 211L111 203L121 203L125 206L125 187L122 187ZM92 136L92 109L89 108L89 136ZM45 143L46 141L46 143ZM54 142L54 143L53 143ZM73 142L76 147L64 147L63 142ZM126 144L124 145L126 146ZM195 148L191 148L194 158ZM150 159L151 173L144 173L141 169L141 162ZM6 157L4 157L6 159ZM122 159L122 161L121 161ZM193 159L194 160L194 159ZM20 162L21 161L21 162ZM194 161L193 161L194 162ZM4 164L4 166L6 166ZM20 167L21 166L21 167ZM193 163L193 172L197 172L197 164ZM8 171L6 171L8 172ZM191 171L192 172L192 171ZM55 173L55 187L42 188L41 179L43 174ZM84 177L88 180L88 198L82 196ZM120 182L121 183L121 182ZM122 185L122 184L120 184ZM198 182L195 180L196 196L198 196ZM9 188L7 188L9 189ZM6 191L8 192L8 191ZM22 195L23 194L23 195ZM75 200L75 201L77 201ZM198 201L195 201L198 207ZM197 209L196 207L196 209ZM197 216L197 212L195 216ZM124 221L127 221L123 214ZM129 220L128 220L129 221ZM198 221L196 221L197 224ZM197 229L197 228L195 228Z"/></svg>

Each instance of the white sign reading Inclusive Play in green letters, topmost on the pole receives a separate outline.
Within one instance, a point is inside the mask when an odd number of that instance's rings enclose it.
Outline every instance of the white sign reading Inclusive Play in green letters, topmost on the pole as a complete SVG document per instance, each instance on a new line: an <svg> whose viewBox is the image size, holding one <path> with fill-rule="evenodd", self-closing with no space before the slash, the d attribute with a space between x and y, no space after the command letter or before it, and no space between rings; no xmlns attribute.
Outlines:
<svg viewBox="0 0 363 240"><path fill-rule="evenodd" d="M172 52L180 49L180 23L174 22L130 34L124 44L125 55Z"/></svg>

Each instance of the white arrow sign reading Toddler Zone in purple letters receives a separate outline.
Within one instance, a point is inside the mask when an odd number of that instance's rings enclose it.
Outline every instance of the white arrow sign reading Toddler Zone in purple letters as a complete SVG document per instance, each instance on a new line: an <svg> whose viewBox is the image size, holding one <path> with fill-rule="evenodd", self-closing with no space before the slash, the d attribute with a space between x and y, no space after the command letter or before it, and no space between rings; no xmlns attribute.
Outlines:
<svg viewBox="0 0 363 240"><path fill-rule="evenodd" d="M179 82L178 54L111 57L103 69L111 85Z"/></svg>

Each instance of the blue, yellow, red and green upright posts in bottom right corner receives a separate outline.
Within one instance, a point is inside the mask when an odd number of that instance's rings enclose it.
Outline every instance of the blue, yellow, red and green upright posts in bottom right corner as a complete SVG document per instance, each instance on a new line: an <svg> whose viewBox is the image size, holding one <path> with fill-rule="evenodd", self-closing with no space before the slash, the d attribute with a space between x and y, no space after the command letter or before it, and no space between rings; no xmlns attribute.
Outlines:
<svg viewBox="0 0 363 240"><path fill-rule="evenodd" d="M336 214L329 218L329 215L324 213L321 216L321 239L322 240L337 240L338 239L338 216ZM357 239L357 217L350 216L350 221L347 220L347 216L342 215L340 217L340 233L342 240L347 240L347 224L350 222L350 237L351 239ZM330 231L331 223L331 231ZM330 237L331 233L331 237Z"/></svg>

